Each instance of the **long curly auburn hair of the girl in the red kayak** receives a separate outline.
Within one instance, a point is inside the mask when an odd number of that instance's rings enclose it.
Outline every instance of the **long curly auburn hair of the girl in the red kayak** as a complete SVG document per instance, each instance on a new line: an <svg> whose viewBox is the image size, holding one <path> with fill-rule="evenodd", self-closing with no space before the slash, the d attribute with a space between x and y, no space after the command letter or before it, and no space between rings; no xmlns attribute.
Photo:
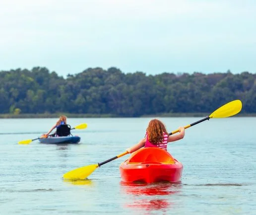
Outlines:
<svg viewBox="0 0 256 215"><path fill-rule="evenodd" d="M160 120L154 119L149 122L147 127L147 137L149 142L154 145L163 142L163 133L169 135L165 125Z"/></svg>

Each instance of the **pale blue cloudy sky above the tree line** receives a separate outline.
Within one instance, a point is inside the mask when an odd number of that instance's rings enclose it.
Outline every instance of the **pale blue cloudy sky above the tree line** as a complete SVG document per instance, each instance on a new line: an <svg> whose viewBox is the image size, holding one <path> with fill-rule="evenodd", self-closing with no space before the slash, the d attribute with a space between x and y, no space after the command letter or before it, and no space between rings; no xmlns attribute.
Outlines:
<svg viewBox="0 0 256 215"><path fill-rule="evenodd" d="M256 73L256 0L0 0L0 71Z"/></svg>

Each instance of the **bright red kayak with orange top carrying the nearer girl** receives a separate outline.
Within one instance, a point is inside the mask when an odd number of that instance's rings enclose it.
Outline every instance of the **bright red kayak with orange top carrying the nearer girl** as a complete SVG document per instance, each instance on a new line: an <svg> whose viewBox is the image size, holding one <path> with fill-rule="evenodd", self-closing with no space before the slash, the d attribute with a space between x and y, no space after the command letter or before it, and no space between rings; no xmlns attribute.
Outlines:
<svg viewBox="0 0 256 215"><path fill-rule="evenodd" d="M133 152L119 170L125 182L177 182L181 179L183 165L166 150L150 147Z"/></svg>

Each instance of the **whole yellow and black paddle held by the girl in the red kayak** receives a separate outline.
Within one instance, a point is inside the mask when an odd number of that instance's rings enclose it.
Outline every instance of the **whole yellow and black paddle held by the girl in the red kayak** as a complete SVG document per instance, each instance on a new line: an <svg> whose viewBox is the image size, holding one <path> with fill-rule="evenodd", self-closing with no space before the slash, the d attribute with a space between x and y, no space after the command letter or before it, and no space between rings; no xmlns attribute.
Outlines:
<svg viewBox="0 0 256 215"><path fill-rule="evenodd" d="M237 113L239 113L242 109L242 102L240 100L234 100L231 101L223 106L221 106L220 108L218 108L217 110L215 110L210 116L207 116L205 118L203 118L202 120L199 120L195 123L192 123L188 126L185 126L185 129L188 129L198 123L201 123L205 120L209 120L210 118L225 118L225 117L231 117L233 115L236 115ZM179 129L172 131L171 134L177 133L179 132ZM69 172L66 172L63 177L65 179L85 179L87 178L92 172L94 172L98 167L102 166L103 164L106 164L108 162L111 162L117 158L120 158L124 155L127 155L128 152L124 152L120 155L117 155L107 161L104 161L102 163L98 163L98 164L92 164L92 165L88 165L88 166L84 166L84 167L80 167L77 168L75 170L71 170Z"/></svg>

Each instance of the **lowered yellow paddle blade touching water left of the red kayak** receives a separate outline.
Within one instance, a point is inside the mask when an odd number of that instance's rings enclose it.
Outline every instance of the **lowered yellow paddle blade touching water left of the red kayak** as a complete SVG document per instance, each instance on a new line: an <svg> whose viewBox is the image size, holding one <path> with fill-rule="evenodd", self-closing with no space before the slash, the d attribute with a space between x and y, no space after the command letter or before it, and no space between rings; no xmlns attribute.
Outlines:
<svg viewBox="0 0 256 215"><path fill-rule="evenodd" d="M85 167L80 167L75 170L71 170L69 172L66 172L63 175L63 178L65 179L85 179L87 178L93 171L96 170L96 168L99 167L98 164L92 164Z"/></svg>

